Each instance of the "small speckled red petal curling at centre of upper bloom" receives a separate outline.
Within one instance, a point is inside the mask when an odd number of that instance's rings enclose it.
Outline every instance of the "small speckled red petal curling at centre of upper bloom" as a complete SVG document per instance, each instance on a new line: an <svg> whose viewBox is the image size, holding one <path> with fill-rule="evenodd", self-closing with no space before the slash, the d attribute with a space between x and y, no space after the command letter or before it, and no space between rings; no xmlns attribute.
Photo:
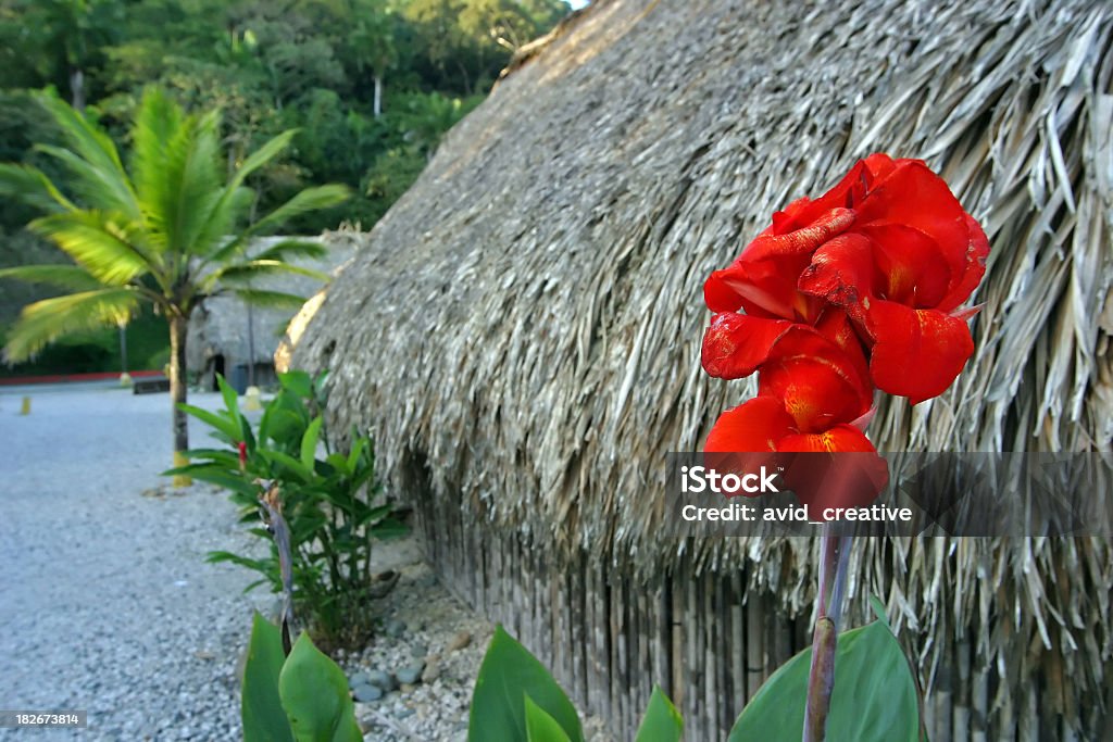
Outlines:
<svg viewBox="0 0 1113 742"><path fill-rule="evenodd" d="M799 289L834 305L846 307L854 318L864 310L864 300L874 295L877 268L873 244L857 233L839 235L811 256L811 265L800 274Z"/></svg>

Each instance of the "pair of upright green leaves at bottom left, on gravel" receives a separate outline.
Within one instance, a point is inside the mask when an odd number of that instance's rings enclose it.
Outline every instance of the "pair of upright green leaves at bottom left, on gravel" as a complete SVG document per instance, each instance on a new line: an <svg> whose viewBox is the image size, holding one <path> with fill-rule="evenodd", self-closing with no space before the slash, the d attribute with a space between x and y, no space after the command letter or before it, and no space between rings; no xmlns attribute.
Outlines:
<svg viewBox="0 0 1113 742"><path fill-rule="evenodd" d="M284 656L278 629L255 614L242 690L245 742L358 742L344 672L303 633Z"/></svg>

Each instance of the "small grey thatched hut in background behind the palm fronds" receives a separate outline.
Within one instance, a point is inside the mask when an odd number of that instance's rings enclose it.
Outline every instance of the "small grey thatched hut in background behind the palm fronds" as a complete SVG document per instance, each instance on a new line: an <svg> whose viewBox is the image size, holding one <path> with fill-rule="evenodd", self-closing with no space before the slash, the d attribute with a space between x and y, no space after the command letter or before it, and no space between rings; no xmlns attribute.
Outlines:
<svg viewBox="0 0 1113 742"><path fill-rule="evenodd" d="M250 250L260 251L289 237L260 237ZM321 237L299 237L314 243ZM328 255L319 260L297 260L303 268L324 274L335 270L352 257L343 240L333 237L326 243ZM282 291L309 297L321 289L321 281L311 276L276 275L260 278L254 289ZM252 383L274 384L275 353L294 311L275 307L248 306L243 299L223 294L210 297L189 320L186 365L205 389L217 388L217 374L224 376L240 393Z"/></svg>

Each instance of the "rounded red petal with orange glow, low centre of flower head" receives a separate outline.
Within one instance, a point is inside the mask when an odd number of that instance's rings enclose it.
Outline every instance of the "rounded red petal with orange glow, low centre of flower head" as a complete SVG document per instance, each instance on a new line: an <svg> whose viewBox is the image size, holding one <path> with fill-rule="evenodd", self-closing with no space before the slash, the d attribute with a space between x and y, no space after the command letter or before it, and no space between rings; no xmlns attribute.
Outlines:
<svg viewBox="0 0 1113 742"><path fill-rule="evenodd" d="M849 423L869 409L873 387L838 346L810 327L789 328L761 366L758 393L784 400L801 433Z"/></svg>

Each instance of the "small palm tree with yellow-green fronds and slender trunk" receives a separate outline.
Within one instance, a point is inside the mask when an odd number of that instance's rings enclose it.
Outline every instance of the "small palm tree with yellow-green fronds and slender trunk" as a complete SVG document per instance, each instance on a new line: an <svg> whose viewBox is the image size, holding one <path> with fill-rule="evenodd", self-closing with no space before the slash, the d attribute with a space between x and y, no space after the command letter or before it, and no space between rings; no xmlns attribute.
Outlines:
<svg viewBox="0 0 1113 742"><path fill-rule="evenodd" d="M249 238L299 214L347 198L343 186L307 188L269 214L246 224L255 194L244 185L294 136L286 131L228 174L220 157L216 112L186 115L157 89L145 92L131 127L128 167L111 139L63 101L41 98L67 147L40 146L66 171L66 188L41 170L0 165L0 195L22 198L45 211L29 228L52 241L73 265L0 270L72 291L28 305L8 336L6 360L24 360L62 335L127 323L144 303L166 317L170 332L170 396L175 464L189 447L186 414L186 330L206 298L234 293L248 301L301 306L302 297L250 288L254 278L279 273L326 276L286 263L321 257L318 244L282 240L255 254Z"/></svg>

